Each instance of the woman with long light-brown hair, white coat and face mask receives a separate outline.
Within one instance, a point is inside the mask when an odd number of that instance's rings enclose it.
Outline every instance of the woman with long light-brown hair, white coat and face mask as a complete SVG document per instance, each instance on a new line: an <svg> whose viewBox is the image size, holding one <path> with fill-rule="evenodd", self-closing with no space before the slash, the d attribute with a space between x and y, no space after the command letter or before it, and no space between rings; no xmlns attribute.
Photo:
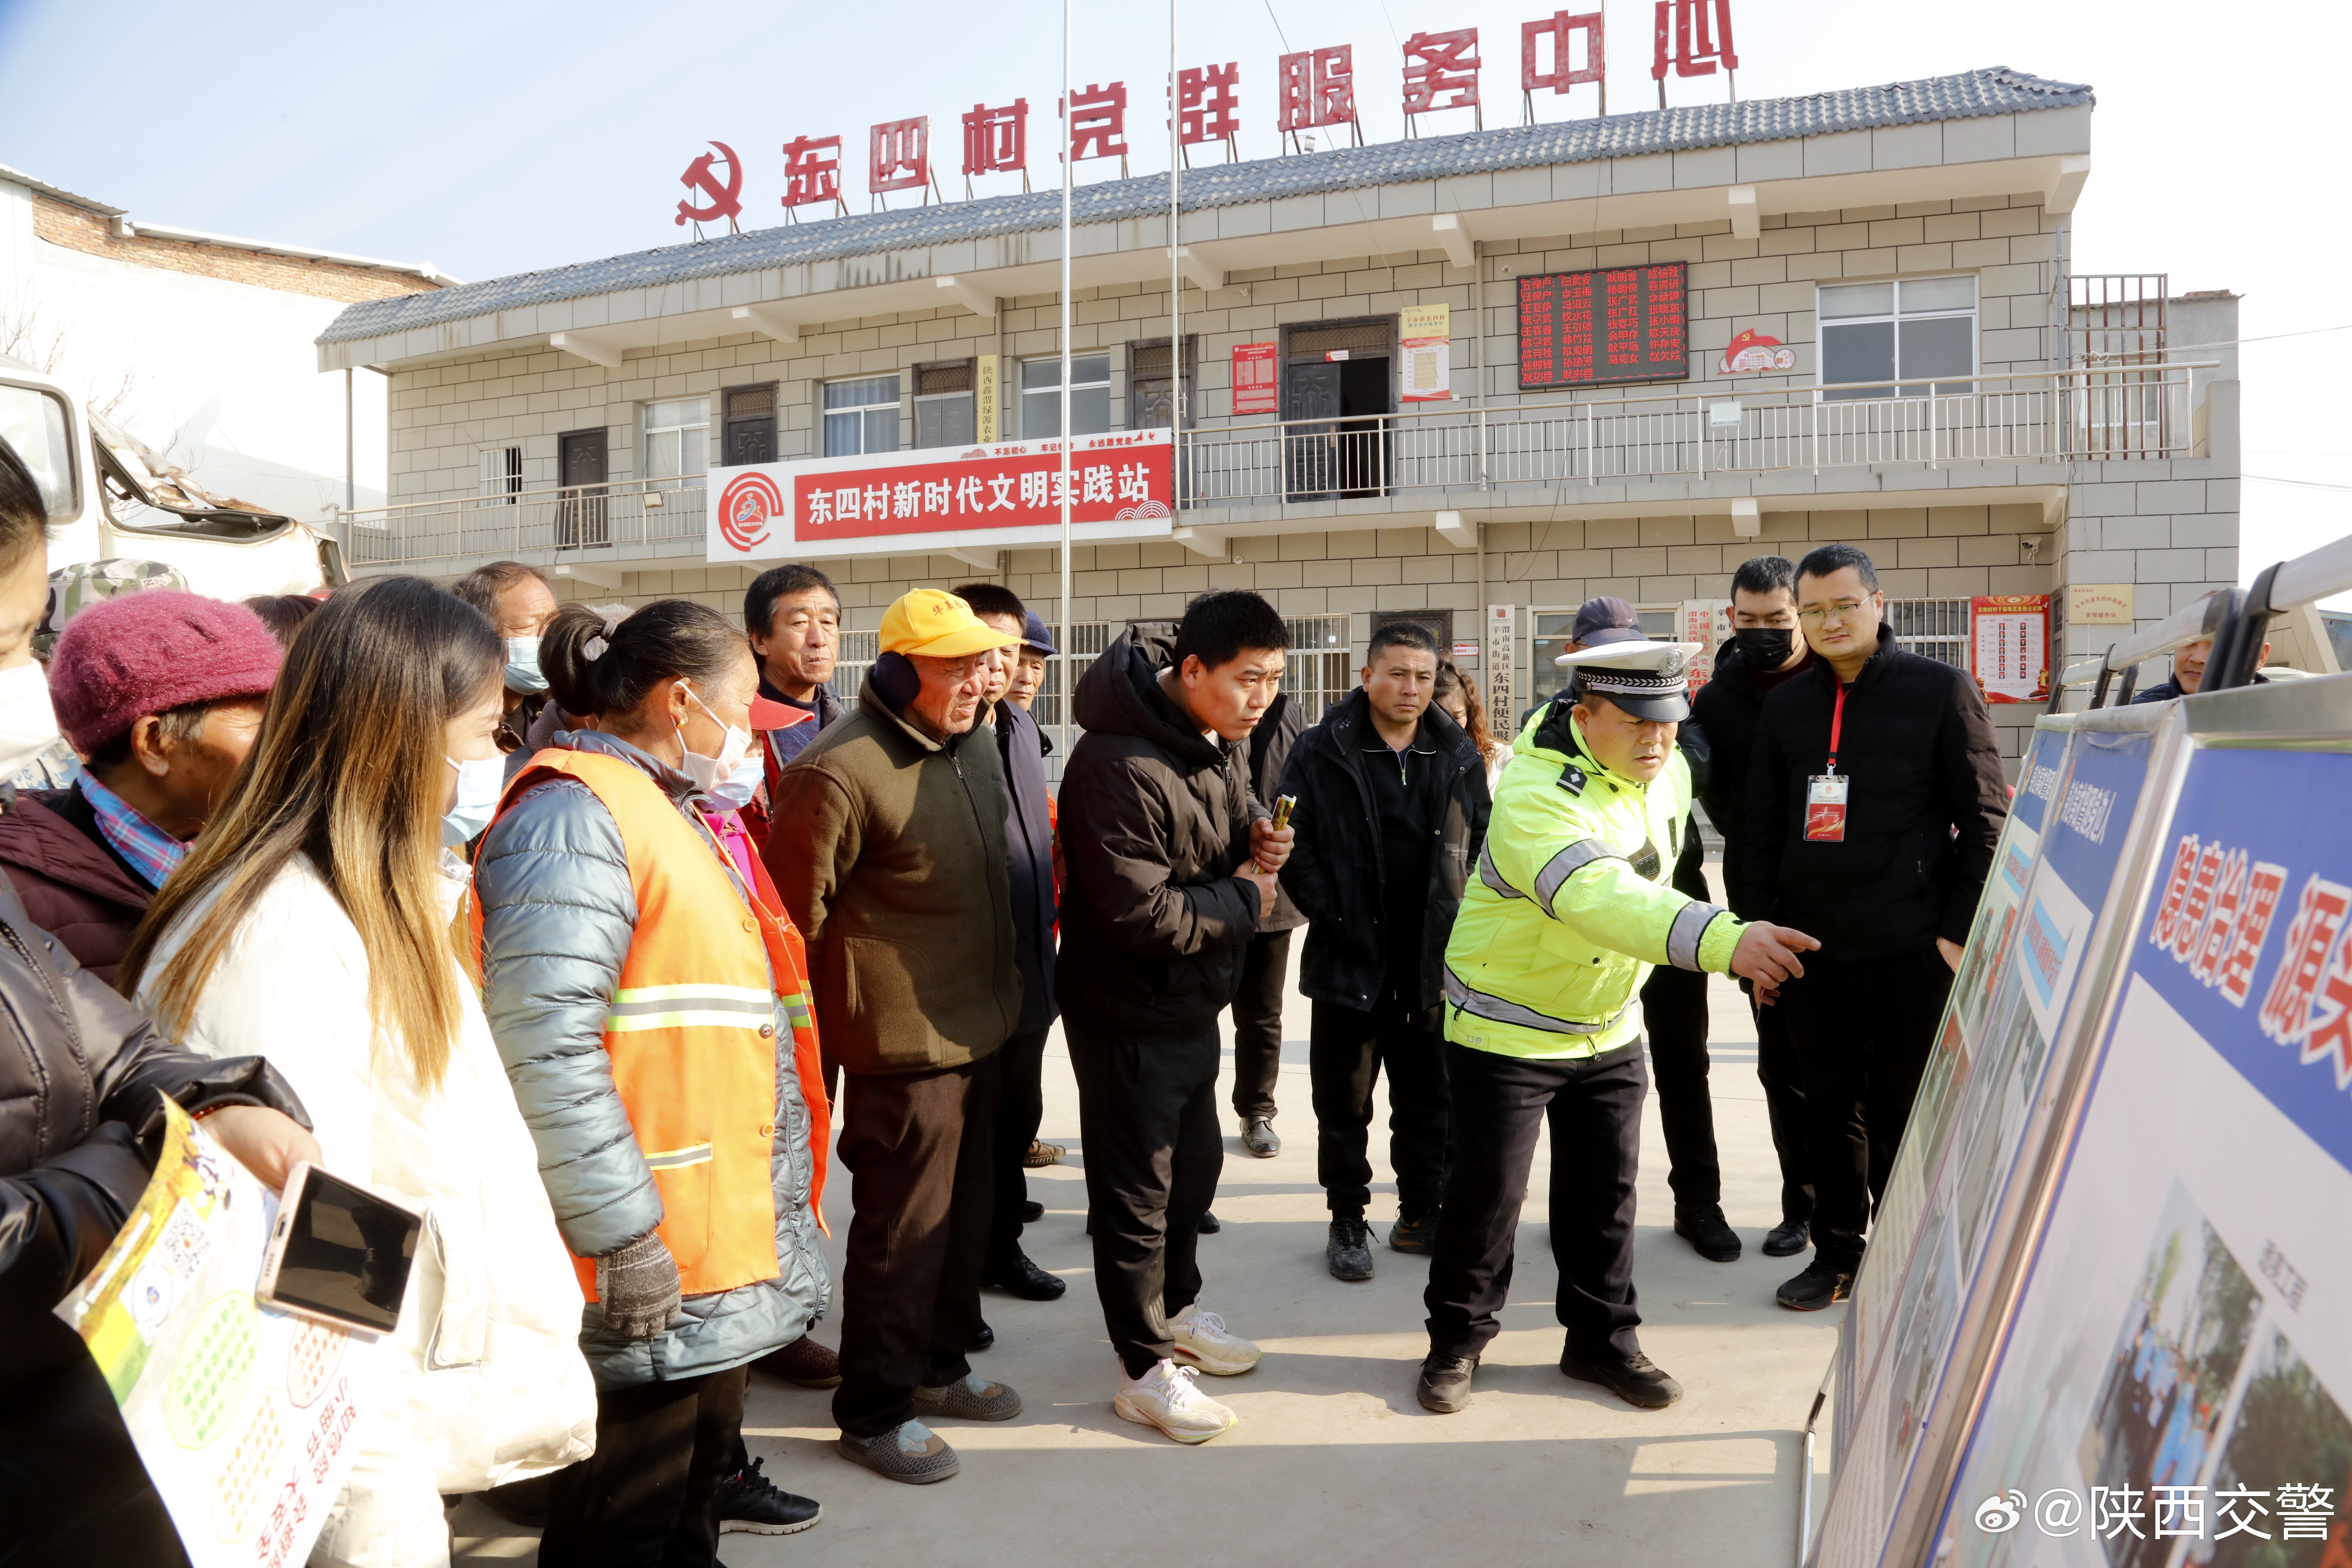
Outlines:
<svg viewBox="0 0 2352 1568"><path fill-rule="evenodd" d="M447 1563L442 1493L593 1443L579 1284L452 945L466 867L445 846L496 797L503 661L489 623L421 578L334 595L122 961L191 1048L259 1051L296 1086L327 1171L426 1215L388 1335L395 1396L313 1563Z"/></svg>

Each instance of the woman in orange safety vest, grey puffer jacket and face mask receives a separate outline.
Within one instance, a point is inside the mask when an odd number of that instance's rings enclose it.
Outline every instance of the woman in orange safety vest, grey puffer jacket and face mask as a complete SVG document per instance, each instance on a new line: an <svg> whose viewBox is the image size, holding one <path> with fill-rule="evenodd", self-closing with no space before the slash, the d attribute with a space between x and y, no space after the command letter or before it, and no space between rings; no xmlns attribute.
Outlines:
<svg viewBox="0 0 2352 1568"><path fill-rule="evenodd" d="M597 1380L597 1450L555 1481L539 1561L708 1563L722 1519L818 1514L741 1450L743 1368L830 1298L800 933L717 820L760 783L760 672L687 599L564 604L539 661L583 729L522 766L475 858L482 1004Z"/></svg>

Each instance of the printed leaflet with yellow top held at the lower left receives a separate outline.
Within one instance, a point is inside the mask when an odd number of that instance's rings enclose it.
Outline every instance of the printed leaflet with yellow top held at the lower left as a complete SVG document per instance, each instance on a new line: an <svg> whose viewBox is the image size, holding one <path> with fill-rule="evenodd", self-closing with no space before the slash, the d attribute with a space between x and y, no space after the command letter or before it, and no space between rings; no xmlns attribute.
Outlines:
<svg viewBox="0 0 2352 1568"><path fill-rule="evenodd" d="M195 1568L310 1556L374 1410L376 1349L254 1300L278 1197L165 1100L162 1159L56 1307L89 1345Z"/></svg>

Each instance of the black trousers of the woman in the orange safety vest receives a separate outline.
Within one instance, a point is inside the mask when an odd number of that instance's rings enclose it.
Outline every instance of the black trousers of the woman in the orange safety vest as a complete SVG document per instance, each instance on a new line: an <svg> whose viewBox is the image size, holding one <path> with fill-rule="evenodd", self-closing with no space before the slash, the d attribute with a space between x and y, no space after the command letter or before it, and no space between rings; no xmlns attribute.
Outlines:
<svg viewBox="0 0 2352 1568"><path fill-rule="evenodd" d="M710 1568L720 1476L743 1439L743 1368L595 1396L595 1453L555 1472L546 1568Z"/></svg>

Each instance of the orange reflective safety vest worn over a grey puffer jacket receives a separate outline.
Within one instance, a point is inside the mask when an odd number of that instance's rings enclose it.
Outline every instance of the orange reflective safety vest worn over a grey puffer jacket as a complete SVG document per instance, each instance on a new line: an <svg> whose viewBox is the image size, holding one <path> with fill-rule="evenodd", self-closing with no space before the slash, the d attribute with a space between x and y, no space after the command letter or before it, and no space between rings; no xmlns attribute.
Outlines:
<svg viewBox="0 0 2352 1568"><path fill-rule="evenodd" d="M661 1190L654 1234L680 1291L710 1295L776 1279L776 1001L809 1107L809 1211L823 1225L830 1107L809 1006L807 952L781 905L743 886L708 823L689 823L621 757L550 748L499 802L553 776L595 792L621 827L637 931L604 1016L612 1081ZM485 835L487 837L487 835ZM473 907L480 961L482 910ZM576 1258L595 1300L595 1260Z"/></svg>

